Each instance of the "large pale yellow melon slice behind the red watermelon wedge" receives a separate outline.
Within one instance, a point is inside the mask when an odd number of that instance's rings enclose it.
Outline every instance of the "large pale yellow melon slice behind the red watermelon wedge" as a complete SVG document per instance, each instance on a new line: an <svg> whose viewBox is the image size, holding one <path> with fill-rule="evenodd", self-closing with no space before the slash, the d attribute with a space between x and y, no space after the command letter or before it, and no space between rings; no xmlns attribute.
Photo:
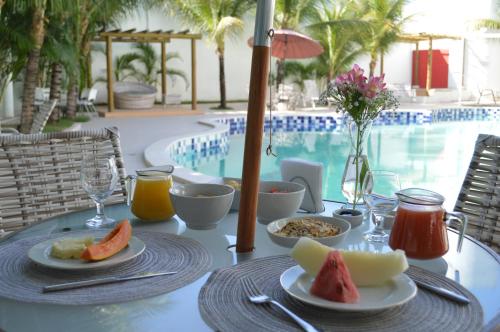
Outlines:
<svg viewBox="0 0 500 332"><path fill-rule="evenodd" d="M311 277L315 277L331 250L313 239L303 237L290 254ZM408 269L408 261L402 250L383 254L342 251L342 257L357 286L378 286Z"/></svg>

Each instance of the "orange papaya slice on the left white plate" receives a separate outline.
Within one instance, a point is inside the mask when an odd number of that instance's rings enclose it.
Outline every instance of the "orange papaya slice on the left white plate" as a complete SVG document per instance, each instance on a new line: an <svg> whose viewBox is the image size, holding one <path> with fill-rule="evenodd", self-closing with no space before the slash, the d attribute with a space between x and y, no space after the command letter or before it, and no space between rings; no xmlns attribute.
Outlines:
<svg viewBox="0 0 500 332"><path fill-rule="evenodd" d="M111 257L128 245L132 237L132 226L128 220L119 223L99 243L88 246L80 256L88 261L100 261Z"/></svg>

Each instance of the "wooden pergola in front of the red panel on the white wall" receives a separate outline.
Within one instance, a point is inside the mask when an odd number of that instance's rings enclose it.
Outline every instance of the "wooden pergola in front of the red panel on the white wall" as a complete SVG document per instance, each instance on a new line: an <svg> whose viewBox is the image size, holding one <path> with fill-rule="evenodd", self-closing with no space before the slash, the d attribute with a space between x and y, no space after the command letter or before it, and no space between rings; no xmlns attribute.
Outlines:
<svg viewBox="0 0 500 332"><path fill-rule="evenodd" d="M427 79L425 81L425 91L423 94L428 96L429 90L431 89L432 82L432 41L437 39L454 39L461 40L462 37L452 36L452 35L444 35L444 34L433 34L433 33L418 33L418 34L400 34L398 36L398 40L404 43L414 43L415 44L415 63L413 66L413 72L415 73L414 77L416 78L416 82L418 84L418 63L419 63L419 43L422 41L429 42L429 48L427 52ZM413 83L413 82L412 82Z"/></svg>

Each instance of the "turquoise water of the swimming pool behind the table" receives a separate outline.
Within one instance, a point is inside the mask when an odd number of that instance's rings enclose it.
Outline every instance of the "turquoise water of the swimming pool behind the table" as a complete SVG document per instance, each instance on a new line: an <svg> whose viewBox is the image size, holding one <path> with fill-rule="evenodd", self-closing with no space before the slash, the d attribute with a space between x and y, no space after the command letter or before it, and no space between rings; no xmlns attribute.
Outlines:
<svg viewBox="0 0 500 332"><path fill-rule="evenodd" d="M371 169L400 175L401 186L437 191L453 207L474 143L479 133L500 134L500 121L441 122L415 125L373 126L368 140ZM264 136L261 178L280 179L280 163L301 158L323 163L323 197L345 201L341 179L349 154L349 139L344 128L333 132L279 132L273 134L273 151L267 156L268 136ZM244 135L231 136L229 152L210 158L184 156L179 164L213 176L241 177Z"/></svg>

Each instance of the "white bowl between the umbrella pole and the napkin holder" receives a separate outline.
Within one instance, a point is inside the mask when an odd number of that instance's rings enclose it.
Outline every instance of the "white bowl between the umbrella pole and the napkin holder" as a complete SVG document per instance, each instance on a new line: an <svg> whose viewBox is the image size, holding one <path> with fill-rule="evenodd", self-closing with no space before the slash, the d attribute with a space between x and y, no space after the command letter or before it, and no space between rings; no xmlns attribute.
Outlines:
<svg viewBox="0 0 500 332"><path fill-rule="evenodd" d="M274 189L278 192L272 193ZM259 223L267 225L273 220L293 216L302 204L304 193L305 187L299 183L261 181L257 205Z"/></svg>

